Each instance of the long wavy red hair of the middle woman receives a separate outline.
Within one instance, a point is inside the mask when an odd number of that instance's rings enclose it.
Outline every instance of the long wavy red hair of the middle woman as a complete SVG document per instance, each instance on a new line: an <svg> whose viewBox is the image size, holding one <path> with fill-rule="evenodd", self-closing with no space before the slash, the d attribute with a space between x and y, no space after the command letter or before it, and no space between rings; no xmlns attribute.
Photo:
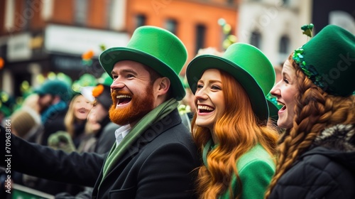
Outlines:
<svg viewBox="0 0 355 199"><path fill-rule="evenodd" d="M256 144L261 144L271 156L275 156L278 133L265 121L258 121L253 113L251 102L244 88L229 73L221 71L222 87L226 110L214 124L214 134L219 140L218 146L207 155L208 169L200 166L197 178L197 193L200 198L218 198L226 190L231 190L233 174L241 186L236 161ZM192 119L192 137L203 150L204 145L212 139L209 129L198 127L196 114Z"/></svg>

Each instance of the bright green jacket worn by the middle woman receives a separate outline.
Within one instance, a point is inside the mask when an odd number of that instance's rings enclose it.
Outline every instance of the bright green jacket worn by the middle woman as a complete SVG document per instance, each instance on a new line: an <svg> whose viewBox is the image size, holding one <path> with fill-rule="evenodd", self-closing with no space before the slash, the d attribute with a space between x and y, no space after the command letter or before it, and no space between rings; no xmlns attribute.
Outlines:
<svg viewBox="0 0 355 199"><path fill-rule="evenodd" d="M268 152L263 149L263 146L258 144L241 156L236 163L236 168L242 183L241 198L263 198L275 173L275 163L273 163L273 159ZM236 195L238 191L236 176L232 177L231 185L234 195ZM219 198L235 198L235 196L229 197L229 190L227 190Z"/></svg>

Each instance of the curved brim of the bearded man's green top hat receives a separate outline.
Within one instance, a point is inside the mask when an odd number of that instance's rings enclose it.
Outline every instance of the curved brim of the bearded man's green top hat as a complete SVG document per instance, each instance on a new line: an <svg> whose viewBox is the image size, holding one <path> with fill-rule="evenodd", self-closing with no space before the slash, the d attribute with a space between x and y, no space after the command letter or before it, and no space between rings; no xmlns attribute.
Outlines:
<svg viewBox="0 0 355 199"><path fill-rule="evenodd" d="M131 60L141 63L152 68L163 77L168 77L170 80L170 87L173 91L173 97L177 100L181 100L185 97L186 92L182 82L180 81L180 77L176 75L176 73L168 67L168 65L163 63L163 61L149 55L148 53L144 53L141 50L133 48L116 47L105 50L99 56L99 62L102 65L102 68L104 68L111 78L111 71L114 68L114 65L123 60ZM164 70L161 70L162 68Z"/></svg>

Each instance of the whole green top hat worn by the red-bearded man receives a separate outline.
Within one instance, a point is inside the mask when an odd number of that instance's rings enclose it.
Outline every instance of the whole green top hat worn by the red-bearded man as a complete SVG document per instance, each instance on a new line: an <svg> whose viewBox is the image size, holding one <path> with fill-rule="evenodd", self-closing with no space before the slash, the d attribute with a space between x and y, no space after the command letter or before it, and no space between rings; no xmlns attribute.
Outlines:
<svg viewBox="0 0 355 199"><path fill-rule="evenodd" d="M102 68L110 76L114 65L122 60L132 60L153 68L170 79L175 99L185 97L179 74L186 63L187 50L173 33L155 26L141 26L134 31L126 47L109 48L99 56Z"/></svg>

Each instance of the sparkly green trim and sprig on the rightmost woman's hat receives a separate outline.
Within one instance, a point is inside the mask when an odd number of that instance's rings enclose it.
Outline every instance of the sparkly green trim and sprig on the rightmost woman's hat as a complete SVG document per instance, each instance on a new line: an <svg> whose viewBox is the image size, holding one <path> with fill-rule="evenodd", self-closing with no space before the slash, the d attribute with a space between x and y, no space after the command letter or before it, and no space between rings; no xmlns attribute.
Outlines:
<svg viewBox="0 0 355 199"><path fill-rule="evenodd" d="M312 38L312 29L314 25L310 23L309 25L304 25L301 27L303 34ZM317 72L315 66L307 65L303 57L303 48L297 48L293 53L293 60L297 63L301 70L305 73L305 75L312 80L312 82L318 87L322 88L322 90L327 90L327 83L323 80L323 77Z"/></svg>

